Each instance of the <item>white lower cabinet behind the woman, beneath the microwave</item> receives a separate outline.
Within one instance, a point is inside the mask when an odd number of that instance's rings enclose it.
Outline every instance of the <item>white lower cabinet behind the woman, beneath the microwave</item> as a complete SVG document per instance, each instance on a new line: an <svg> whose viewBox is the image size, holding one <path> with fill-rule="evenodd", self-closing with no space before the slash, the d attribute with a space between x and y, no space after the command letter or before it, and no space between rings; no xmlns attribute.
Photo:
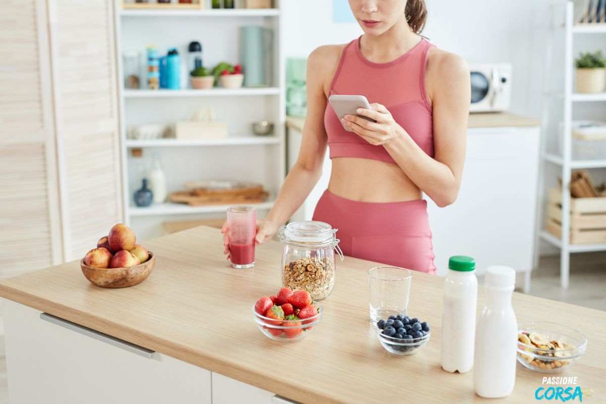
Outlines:
<svg viewBox="0 0 606 404"><path fill-rule="evenodd" d="M438 273L448 257L476 259L478 273L488 265L508 265L525 273L525 291L533 268L539 168L539 127L468 130L467 157L459 197L439 208L428 200ZM298 156L301 132L288 130L288 167ZM325 156L322 177L293 220L310 220L330 179Z"/></svg>

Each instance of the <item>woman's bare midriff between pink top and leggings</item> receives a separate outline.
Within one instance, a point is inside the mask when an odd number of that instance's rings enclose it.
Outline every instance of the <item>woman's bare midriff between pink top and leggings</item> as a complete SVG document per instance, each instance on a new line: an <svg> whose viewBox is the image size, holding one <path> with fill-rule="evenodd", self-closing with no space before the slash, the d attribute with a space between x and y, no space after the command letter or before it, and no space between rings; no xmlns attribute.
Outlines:
<svg viewBox="0 0 606 404"><path fill-rule="evenodd" d="M360 202L404 202L421 199L421 190L393 163L335 157L328 191Z"/></svg>

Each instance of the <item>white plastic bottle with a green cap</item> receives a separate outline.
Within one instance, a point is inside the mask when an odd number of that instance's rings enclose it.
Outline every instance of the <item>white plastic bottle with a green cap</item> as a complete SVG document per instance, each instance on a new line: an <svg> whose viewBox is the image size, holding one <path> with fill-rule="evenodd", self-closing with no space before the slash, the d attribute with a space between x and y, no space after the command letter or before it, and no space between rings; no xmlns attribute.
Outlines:
<svg viewBox="0 0 606 404"><path fill-rule="evenodd" d="M442 307L440 363L447 372L467 373L473 366L478 279L476 261L467 256L448 260Z"/></svg>

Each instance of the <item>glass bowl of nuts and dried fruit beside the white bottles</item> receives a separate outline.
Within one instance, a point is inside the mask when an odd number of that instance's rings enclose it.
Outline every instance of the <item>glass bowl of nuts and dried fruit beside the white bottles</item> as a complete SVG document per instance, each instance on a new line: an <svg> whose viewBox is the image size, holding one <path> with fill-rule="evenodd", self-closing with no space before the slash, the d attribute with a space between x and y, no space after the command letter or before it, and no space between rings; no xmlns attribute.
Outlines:
<svg viewBox="0 0 606 404"><path fill-rule="evenodd" d="M526 368L542 373L558 373L572 365L585 353L587 338L576 329L551 322L525 322L518 325L518 362ZM532 336L535 333L539 338ZM521 342L521 334L527 334L527 342Z"/></svg>

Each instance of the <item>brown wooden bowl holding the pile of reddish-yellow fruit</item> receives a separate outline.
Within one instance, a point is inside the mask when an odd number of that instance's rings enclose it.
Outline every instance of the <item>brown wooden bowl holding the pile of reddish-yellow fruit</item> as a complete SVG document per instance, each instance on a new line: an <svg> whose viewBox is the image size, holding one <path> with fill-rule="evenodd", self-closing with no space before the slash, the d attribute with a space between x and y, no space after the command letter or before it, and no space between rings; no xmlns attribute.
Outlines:
<svg viewBox="0 0 606 404"><path fill-rule="evenodd" d="M127 288L141 283L149 276L156 266L156 256L148 251L150 257L144 263L127 268L93 268L80 260L80 268L84 277L93 285L102 288Z"/></svg>

